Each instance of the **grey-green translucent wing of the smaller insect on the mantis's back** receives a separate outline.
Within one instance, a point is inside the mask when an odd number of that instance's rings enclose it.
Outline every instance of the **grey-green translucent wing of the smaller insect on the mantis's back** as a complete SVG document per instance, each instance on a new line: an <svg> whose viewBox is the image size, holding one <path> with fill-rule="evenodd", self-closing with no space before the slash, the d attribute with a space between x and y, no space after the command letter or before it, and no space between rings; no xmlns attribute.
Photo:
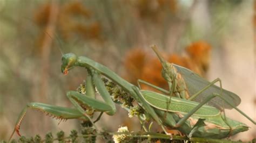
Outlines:
<svg viewBox="0 0 256 143"><path fill-rule="evenodd" d="M191 71L187 68L175 65L175 64L173 64L173 65L174 65L174 67L177 68L178 72L184 78L187 88L188 88L188 92L191 96L196 94L196 92L198 92L202 88L206 87L206 85L210 84L210 82L205 80L203 77L200 77L193 71ZM201 102L207 96L212 95L213 93L217 93L220 95L220 87L218 87L216 85L212 85L211 87L207 88L205 91L201 92L201 94L199 94L194 99L194 101ZM230 101L234 106L238 106L241 102L240 97L231 91L227 91L227 90L223 89L222 95L227 101ZM221 108L232 109L232 106L230 106L226 103L223 103L223 100L221 98L213 98L208 103L208 105L212 105L218 109L221 109Z"/></svg>

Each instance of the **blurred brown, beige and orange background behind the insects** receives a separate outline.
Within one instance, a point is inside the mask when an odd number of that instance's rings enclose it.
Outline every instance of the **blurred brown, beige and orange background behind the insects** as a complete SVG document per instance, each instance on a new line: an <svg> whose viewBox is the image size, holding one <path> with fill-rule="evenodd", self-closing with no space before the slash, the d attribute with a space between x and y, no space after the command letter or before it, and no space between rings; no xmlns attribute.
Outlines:
<svg viewBox="0 0 256 143"><path fill-rule="evenodd" d="M65 94L85 80L86 70L61 74L60 51L87 56L131 83L140 78L166 88L150 48L156 44L166 60L209 81L221 78L225 89L241 97L238 108L256 120L255 8L252 0L0 0L0 140L9 138L29 102L72 107ZM251 127L232 139L255 138L255 125L235 110L226 114ZM77 120L58 123L29 110L21 133L69 133L80 126ZM124 125L140 130L138 120L120 108L97 123L107 131Z"/></svg>

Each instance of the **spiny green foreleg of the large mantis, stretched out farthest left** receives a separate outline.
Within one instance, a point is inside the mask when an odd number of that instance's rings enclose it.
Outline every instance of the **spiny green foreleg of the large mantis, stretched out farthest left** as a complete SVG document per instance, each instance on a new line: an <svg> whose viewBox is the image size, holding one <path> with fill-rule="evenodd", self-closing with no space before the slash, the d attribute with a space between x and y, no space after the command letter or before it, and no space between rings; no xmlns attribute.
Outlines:
<svg viewBox="0 0 256 143"><path fill-rule="evenodd" d="M23 118L26 115L26 111L28 109L34 109L41 111L45 113L46 115L49 115L52 118L60 119L60 120L67 120L67 119L81 119L81 120L88 120L88 118L84 117L82 113L80 113L77 109L72 108L65 108L61 106L53 106L49 104L44 103L29 103L26 105L26 107L22 110L21 113L19 113L18 119L15 124L14 131L11 134L10 139L16 132L19 136L21 134L19 133L19 128L21 127L21 123ZM9 141L10 141L9 139Z"/></svg>

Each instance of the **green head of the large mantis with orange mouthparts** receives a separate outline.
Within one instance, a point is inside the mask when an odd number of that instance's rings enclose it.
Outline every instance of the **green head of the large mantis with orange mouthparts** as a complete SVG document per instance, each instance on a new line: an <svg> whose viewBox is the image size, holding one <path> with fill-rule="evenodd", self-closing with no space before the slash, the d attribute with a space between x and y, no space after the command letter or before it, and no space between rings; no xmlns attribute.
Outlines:
<svg viewBox="0 0 256 143"><path fill-rule="evenodd" d="M62 73L68 74L69 70L75 66L77 56L73 53L64 54L62 56Z"/></svg>

